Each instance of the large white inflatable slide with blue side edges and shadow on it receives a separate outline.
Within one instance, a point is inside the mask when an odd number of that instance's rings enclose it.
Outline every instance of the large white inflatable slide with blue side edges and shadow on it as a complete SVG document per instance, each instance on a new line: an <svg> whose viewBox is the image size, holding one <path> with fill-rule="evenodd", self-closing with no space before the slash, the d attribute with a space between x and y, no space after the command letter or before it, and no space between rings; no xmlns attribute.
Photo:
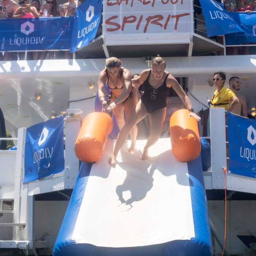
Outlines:
<svg viewBox="0 0 256 256"><path fill-rule="evenodd" d="M142 161L141 140L134 153L127 142L111 166L114 143L106 141L95 163L82 163L53 255L212 255L200 156L178 161L167 138Z"/></svg>

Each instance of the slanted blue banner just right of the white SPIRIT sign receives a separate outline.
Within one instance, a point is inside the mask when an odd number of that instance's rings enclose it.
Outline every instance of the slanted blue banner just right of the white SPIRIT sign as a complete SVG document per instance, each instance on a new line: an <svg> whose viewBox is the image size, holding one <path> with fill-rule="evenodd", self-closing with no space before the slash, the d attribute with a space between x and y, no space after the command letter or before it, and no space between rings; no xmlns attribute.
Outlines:
<svg viewBox="0 0 256 256"><path fill-rule="evenodd" d="M207 36L243 32L232 15L215 0L200 0Z"/></svg>

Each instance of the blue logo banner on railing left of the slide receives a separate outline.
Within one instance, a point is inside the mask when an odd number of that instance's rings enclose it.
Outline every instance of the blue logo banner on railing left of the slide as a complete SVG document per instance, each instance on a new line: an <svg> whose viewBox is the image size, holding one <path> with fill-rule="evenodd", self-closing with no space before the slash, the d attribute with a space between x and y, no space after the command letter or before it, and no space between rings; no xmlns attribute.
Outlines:
<svg viewBox="0 0 256 256"><path fill-rule="evenodd" d="M64 117L56 117L27 129L23 182L64 171Z"/></svg>

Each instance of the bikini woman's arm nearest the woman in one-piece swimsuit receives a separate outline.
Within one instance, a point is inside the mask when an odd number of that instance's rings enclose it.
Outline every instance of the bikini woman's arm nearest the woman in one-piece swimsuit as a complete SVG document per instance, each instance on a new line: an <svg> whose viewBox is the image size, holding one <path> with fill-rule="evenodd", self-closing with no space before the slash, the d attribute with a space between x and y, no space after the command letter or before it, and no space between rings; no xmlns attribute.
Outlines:
<svg viewBox="0 0 256 256"><path fill-rule="evenodd" d="M124 69L122 72L122 76L124 79L124 85L122 93L108 106L108 110L115 108L119 103L126 100L126 98L129 96L129 94L132 91L132 78L131 73L128 69Z"/></svg>

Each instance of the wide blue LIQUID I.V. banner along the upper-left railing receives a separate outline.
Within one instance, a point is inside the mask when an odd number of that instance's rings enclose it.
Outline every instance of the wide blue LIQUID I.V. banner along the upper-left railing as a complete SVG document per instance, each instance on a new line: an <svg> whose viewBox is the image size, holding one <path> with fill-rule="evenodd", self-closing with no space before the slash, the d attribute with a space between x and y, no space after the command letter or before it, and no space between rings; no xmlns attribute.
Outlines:
<svg viewBox="0 0 256 256"><path fill-rule="evenodd" d="M70 48L74 17L2 19L0 50L64 50Z"/></svg>

